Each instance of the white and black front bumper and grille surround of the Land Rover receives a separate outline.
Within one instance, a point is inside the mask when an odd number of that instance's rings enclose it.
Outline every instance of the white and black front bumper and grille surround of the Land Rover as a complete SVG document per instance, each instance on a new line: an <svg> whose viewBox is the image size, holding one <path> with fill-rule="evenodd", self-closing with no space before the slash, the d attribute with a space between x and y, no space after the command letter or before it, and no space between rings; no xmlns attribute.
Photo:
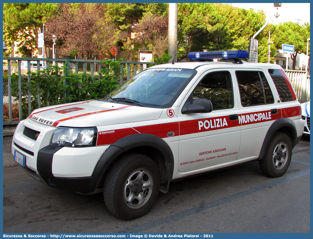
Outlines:
<svg viewBox="0 0 313 239"><path fill-rule="evenodd" d="M32 124L31 124L32 123ZM49 145L55 127L22 121L13 136L14 150L26 156L23 170L42 183L83 194L95 191L99 182L93 175L95 167L109 145L96 147L59 147ZM29 138L23 133L25 127L40 132L37 139ZM98 180L98 178L97 178Z"/></svg>

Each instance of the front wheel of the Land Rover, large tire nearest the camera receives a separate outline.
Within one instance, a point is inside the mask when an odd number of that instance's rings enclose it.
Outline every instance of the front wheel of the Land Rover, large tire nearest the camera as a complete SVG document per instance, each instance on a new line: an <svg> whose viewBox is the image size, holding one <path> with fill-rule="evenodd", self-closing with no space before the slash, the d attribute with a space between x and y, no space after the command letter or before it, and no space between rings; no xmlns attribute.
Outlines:
<svg viewBox="0 0 313 239"><path fill-rule="evenodd" d="M145 215L160 189L156 163L146 155L122 157L110 169L104 184L104 201L118 218L132 220Z"/></svg>

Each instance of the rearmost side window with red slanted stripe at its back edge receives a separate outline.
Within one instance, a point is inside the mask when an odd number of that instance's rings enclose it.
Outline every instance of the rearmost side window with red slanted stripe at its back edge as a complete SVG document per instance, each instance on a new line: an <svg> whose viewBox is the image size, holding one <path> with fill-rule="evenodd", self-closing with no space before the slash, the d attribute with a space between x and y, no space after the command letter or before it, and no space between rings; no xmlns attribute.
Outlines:
<svg viewBox="0 0 313 239"><path fill-rule="evenodd" d="M297 99L295 96L295 91L283 70L269 69L269 74L274 81L280 101L287 102Z"/></svg>

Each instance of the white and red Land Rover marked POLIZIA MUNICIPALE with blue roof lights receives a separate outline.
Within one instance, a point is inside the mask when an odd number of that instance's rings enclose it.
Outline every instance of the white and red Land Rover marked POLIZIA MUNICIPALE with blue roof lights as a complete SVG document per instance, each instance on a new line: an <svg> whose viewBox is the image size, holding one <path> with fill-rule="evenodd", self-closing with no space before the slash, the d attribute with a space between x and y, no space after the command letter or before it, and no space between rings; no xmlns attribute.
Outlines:
<svg viewBox="0 0 313 239"><path fill-rule="evenodd" d="M187 176L258 160L280 177L303 134L300 104L279 65L248 56L189 53L194 62L150 67L103 99L36 109L15 131L14 160L48 186L103 190L126 220Z"/></svg>

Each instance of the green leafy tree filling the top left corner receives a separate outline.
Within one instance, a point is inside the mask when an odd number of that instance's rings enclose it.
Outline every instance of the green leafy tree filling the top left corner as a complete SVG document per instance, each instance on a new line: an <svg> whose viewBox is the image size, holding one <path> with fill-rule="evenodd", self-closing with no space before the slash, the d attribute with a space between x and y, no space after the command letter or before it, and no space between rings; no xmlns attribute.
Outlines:
<svg viewBox="0 0 313 239"><path fill-rule="evenodd" d="M3 41L9 46L6 53L12 52L14 42L21 52L34 51L38 28L53 16L56 7L57 3L3 3Z"/></svg>

